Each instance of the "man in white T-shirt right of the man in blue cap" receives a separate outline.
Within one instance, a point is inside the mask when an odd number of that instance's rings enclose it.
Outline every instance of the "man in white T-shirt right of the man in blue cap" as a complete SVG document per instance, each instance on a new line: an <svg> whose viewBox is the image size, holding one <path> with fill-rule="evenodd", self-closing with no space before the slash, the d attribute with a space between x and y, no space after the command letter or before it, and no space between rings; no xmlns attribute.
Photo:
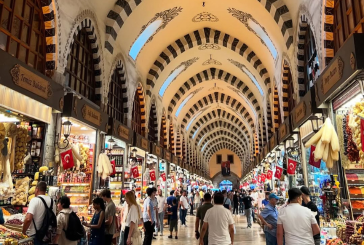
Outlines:
<svg viewBox="0 0 364 245"><path fill-rule="evenodd" d="M277 243L285 245L313 245L313 235L320 232L311 210L302 206L302 191L298 188L288 190L289 205L279 210L277 220Z"/></svg>

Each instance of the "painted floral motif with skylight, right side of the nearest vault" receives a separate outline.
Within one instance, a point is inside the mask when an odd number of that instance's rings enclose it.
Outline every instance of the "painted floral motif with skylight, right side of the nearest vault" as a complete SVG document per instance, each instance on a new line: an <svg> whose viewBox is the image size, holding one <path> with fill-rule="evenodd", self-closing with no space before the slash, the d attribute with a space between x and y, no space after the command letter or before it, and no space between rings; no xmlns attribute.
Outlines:
<svg viewBox="0 0 364 245"><path fill-rule="evenodd" d="M261 43L266 46L268 48L268 50L270 51L270 54L273 56L273 58L275 59L276 58L276 47L274 45L274 43L272 42L272 40L270 39L268 33L266 32L265 28L250 14L250 13L246 13L246 12L243 12L243 11L240 11L236 8L227 8L227 11L229 13L231 13L231 15L235 18L237 18L241 23L243 23L245 25L245 27L251 31L252 33L255 34L256 37L258 37L261 41ZM256 27L252 27L250 24L249 24L249 20L251 20L252 22L254 22L256 25ZM268 38L269 40L269 44L273 45L274 47L274 50L271 50L272 48L269 47L267 45L267 40L263 40L263 37L262 37L262 33L258 33L258 32L264 32L264 37Z"/></svg>

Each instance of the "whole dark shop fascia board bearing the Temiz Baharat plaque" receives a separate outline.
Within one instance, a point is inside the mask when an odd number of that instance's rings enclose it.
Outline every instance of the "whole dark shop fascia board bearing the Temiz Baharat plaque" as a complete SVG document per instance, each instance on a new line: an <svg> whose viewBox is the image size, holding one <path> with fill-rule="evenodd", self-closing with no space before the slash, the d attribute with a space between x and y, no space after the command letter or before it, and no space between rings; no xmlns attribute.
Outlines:
<svg viewBox="0 0 364 245"><path fill-rule="evenodd" d="M63 111L63 86L2 49L0 74L1 85L48 105L58 112Z"/></svg>

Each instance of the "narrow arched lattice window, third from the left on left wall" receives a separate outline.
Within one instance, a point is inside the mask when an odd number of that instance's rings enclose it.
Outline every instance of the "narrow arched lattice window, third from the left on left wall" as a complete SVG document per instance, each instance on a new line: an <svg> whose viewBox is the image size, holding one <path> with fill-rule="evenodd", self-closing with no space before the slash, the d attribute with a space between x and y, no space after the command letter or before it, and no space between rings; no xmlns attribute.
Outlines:
<svg viewBox="0 0 364 245"><path fill-rule="evenodd" d="M110 90L108 91L107 114L112 118L124 123L124 102L122 99L122 84L117 68L114 69Z"/></svg>

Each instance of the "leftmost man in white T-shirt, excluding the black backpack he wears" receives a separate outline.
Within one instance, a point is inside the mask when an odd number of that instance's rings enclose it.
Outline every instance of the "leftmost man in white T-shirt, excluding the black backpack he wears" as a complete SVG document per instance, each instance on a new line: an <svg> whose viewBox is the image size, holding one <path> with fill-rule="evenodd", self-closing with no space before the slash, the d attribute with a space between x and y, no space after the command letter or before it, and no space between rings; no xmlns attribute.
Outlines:
<svg viewBox="0 0 364 245"><path fill-rule="evenodd" d="M53 201L49 196L45 195L46 190L47 190L47 184L44 181L39 181L36 184L34 191L34 195L36 197L32 198L29 202L28 210L23 223L23 229L22 229L23 234L26 234L28 236L35 236L36 231L34 223L36 229L39 230L41 228L46 209L43 201L38 197L44 199L47 206L52 209L55 215L55 201ZM36 237L34 237L34 244L43 245L48 243L39 241L36 239Z"/></svg>

